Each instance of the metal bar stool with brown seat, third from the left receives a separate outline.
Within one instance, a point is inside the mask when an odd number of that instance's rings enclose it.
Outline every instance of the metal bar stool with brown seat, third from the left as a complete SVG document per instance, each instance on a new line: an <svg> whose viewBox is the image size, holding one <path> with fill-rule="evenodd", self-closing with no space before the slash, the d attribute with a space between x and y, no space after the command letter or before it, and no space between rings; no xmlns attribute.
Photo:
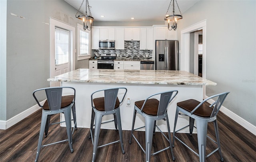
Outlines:
<svg viewBox="0 0 256 162"><path fill-rule="evenodd" d="M136 142L139 144L139 146L143 150L143 152L146 153L146 162L150 162L151 155L155 155L159 152L167 150L168 148L170 148L170 150L171 150L172 160L175 160L174 154L172 151L172 140L171 140L167 108L168 108L168 105L170 104L170 102L172 101L172 99L177 94L178 94L178 90L160 92L160 93L156 93L156 94L153 94L153 95L147 97L146 100L136 101L134 104L134 116L133 116L133 120L132 120L132 134L131 134L129 143L130 144L132 143L132 137L136 140ZM156 99L156 97L159 98L159 96L160 96L160 100ZM145 118L145 126L134 129L136 113L141 114ZM160 128L156 125L156 120L161 120L161 119L166 120L166 122L167 122L169 138L167 138L164 135L164 133L160 130ZM138 140L136 139L136 137L133 134L134 130L138 130L141 128L145 128L146 151L142 148L141 144L138 142ZM170 146L151 154L152 138L153 138L153 134L154 134L156 128L162 133L162 135L164 135L166 140L168 140Z"/></svg>

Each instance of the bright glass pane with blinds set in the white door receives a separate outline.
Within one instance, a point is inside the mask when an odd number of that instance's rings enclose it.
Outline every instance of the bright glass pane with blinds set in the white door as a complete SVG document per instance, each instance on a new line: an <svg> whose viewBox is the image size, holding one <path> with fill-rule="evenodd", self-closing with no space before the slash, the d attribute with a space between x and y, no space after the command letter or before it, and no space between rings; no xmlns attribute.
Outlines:
<svg viewBox="0 0 256 162"><path fill-rule="evenodd" d="M70 31L55 28L55 65L69 62Z"/></svg>

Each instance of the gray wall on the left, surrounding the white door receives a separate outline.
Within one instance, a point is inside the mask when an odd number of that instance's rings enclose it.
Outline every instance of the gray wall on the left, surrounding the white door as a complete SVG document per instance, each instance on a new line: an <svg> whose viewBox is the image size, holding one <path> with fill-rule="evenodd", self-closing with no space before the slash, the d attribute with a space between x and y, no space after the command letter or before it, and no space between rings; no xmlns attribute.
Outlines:
<svg viewBox="0 0 256 162"><path fill-rule="evenodd" d="M50 78L49 17L76 27L76 12L63 0L7 1L7 99L6 108L1 104L1 114L6 110L6 116L0 116L0 120L8 120L34 106L32 92L50 86L47 82Z"/></svg>

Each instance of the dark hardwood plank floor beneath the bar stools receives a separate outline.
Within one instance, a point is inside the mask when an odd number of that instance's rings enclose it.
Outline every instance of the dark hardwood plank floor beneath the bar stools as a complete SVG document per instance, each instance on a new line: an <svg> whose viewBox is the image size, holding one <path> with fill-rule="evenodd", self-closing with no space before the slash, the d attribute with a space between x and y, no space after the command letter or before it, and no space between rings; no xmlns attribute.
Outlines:
<svg viewBox="0 0 256 162"><path fill-rule="evenodd" d="M58 121L60 115L54 115L51 122ZM35 112L18 124L7 130L0 130L0 162L32 162L36 157L36 148L41 122L41 111ZM228 118L222 112L218 114L220 145L226 162L256 162L256 136ZM54 144L41 149L39 161L42 162L90 162L92 160L92 141L88 138L88 128L78 128L73 134L74 152L70 153L68 142ZM215 137L214 126L208 125L208 135ZM135 136L145 147L144 132L135 132ZM197 136L193 134L178 134L179 138L198 151ZM43 144L66 139L66 128L58 124L50 126L49 135L43 139ZM99 144L118 139L115 130L101 130ZM124 150L122 154L120 143L98 148L98 162L143 162L145 154L133 139L129 144L130 131L123 130ZM215 139L215 138L214 138ZM144 145L143 145L144 144ZM153 137L152 152L168 146L168 142L159 132ZM207 140L206 154L214 150L216 144ZM176 162L197 162L198 156L175 141L174 154ZM151 156L152 162L170 162L170 150ZM207 162L218 162L220 157L215 152L206 159Z"/></svg>

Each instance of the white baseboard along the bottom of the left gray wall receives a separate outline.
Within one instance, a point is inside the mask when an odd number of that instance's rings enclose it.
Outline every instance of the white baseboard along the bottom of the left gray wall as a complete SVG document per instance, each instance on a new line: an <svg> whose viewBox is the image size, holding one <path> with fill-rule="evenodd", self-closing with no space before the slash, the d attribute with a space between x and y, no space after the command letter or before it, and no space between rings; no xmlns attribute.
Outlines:
<svg viewBox="0 0 256 162"><path fill-rule="evenodd" d="M42 102L40 102L40 104L43 104L46 100L43 100ZM31 108L28 108L27 110L21 112L20 114L17 114L16 116L8 119L8 120L0 120L0 129L6 130L8 128L10 128L11 126L13 126L14 124L17 124L18 122L20 122L21 120L23 120L24 118L30 116L31 114L33 114L34 112L36 112L37 110L40 110L40 106L38 106L38 104L32 106Z"/></svg>

